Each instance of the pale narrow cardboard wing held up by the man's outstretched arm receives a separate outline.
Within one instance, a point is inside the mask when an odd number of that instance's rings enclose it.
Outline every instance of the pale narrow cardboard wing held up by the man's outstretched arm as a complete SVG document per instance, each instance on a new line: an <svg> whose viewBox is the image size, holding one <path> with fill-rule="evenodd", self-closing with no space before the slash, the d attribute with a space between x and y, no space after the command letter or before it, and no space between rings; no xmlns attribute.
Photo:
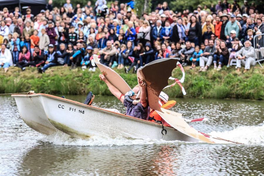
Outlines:
<svg viewBox="0 0 264 176"><path fill-rule="evenodd" d="M94 62L99 68L99 70L102 72L102 74L106 77L106 79L114 85L122 94L126 94L126 92L132 90L129 85L126 83L126 81L113 69L110 67L105 66L104 64L101 64L98 60L98 55L93 55Z"/></svg>

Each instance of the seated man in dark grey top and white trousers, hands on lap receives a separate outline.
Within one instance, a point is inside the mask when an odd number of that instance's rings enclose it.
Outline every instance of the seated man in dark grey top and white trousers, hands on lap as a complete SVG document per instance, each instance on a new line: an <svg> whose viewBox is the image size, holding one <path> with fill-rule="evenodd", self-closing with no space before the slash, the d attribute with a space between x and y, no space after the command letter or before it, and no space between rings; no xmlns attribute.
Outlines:
<svg viewBox="0 0 264 176"><path fill-rule="evenodd" d="M214 40L210 39L208 46L204 49L204 53L202 53L199 60L200 70L199 72L206 72L208 67L211 65L213 61L213 55L215 53L215 47L214 47ZM206 65L204 66L204 63L206 62Z"/></svg>

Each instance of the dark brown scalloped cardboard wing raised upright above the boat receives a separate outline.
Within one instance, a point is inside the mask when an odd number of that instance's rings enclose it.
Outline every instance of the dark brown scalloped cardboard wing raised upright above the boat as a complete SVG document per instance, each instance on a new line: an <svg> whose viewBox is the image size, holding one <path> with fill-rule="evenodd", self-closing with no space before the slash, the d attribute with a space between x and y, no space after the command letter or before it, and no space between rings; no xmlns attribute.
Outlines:
<svg viewBox="0 0 264 176"><path fill-rule="evenodd" d="M167 86L172 70L176 68L180 58L163 58L148 63L137 70L137 76L143 78L147 83L148 103L151 109L162 112L159 106L159 95Z"/></svg>

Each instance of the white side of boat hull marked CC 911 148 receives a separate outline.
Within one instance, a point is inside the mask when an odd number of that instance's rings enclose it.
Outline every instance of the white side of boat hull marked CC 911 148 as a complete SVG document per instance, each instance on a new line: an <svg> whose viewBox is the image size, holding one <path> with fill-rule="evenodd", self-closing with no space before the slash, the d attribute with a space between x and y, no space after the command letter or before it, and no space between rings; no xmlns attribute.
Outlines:
<svg viewBox="0 0 264 176"><path fill-rule="evenodd" d="M50 124L70 136L79 138L122 136L166 141L199 141L167 126L164 126L167 134L163 132L164 135L162 135L162 126L158 123L88 106L76 101L47 94L33 94L31 97L37 98L37 101L42 103L46 119Z"/></svg>

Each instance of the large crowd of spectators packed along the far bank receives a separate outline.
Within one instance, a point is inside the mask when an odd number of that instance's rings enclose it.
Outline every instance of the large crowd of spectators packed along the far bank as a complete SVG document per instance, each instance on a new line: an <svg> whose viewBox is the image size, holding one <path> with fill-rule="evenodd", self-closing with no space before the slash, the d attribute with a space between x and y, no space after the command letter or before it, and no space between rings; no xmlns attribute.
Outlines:
<svg viewBox="0 0 264 176"><path fill-rule="evenodd" d="M180 57L183 66L199 66L205 72L213 65L221 70L235 60L244 72L255 65L253 37L264 33L264 16L245 0L218 1L216 6L198 6L193 12L170 10L167 2L155 11L136 15L134 0L126 4L91 1L81 7L70 0L62 7L46 9L34 16L4 8L0 12L0 69L10 66L36 67L40 73L53 66L81 67L95 71L93 54L106 66L135 72L153 60ZM263 46L259 46L263 47ZM131 70L131 71L130 71Z"/></svg>

